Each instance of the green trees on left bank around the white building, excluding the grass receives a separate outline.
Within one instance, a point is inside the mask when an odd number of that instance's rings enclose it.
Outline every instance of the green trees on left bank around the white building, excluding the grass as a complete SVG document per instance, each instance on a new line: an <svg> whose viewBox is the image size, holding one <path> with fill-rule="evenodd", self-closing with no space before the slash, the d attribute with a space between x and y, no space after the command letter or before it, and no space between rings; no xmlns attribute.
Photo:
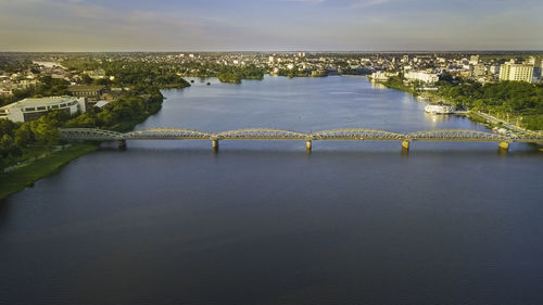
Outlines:
<svg viewBox="0 0 543 305"><path fill-rule="evenodd" d="M7 166L48 153L61 143L59 128L87 127L104 128L117 131L130 130L143 122L149 115L159 112L163 96L161 88L184 88L190 86L179 75L161 65L147 63L105 63L67 62L73 72L83 75L84 69L105 68L106 75L115 76L104 79L84 79L87 84L128 87L129 90L114 102L103 107L89 107L87 112L70 116L63 111L51 111L38 119L26 123L13 123L0 119L0 171ZM65 96L67 81L43 76L36 88L16 92L13 97L18 101L27 97ZM4 102L2 100L2 102ZM11 101L8 101L11 102Z"/></svg>

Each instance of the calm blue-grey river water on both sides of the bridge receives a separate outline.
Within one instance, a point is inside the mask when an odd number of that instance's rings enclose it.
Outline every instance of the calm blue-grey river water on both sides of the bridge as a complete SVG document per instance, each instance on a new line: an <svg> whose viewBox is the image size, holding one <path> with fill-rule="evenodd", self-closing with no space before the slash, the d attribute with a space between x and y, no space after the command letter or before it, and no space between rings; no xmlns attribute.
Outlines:
<svg viewBox="0 0 543 305"><path fill-rule="evenodd" d="M205 80L207 81L207 80ZM164 91L138 129L485 130L365 78ZM543 153L134 141L0 202L0 304L543 304Z"/></svg>

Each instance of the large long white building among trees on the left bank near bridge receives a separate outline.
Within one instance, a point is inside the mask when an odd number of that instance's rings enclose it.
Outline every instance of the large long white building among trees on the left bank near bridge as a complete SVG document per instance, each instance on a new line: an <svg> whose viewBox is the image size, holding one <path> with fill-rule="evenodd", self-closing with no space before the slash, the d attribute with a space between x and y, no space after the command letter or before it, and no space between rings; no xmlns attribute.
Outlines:
<svg viewBox="0 0 543 305"><path fill-rule="evenodd" d="M51 97L39 99L24 99L22 101L0 107L0 118L12 122L34 120L49 111L62 110L70 115L84 113L85 98Z"/></svg>

